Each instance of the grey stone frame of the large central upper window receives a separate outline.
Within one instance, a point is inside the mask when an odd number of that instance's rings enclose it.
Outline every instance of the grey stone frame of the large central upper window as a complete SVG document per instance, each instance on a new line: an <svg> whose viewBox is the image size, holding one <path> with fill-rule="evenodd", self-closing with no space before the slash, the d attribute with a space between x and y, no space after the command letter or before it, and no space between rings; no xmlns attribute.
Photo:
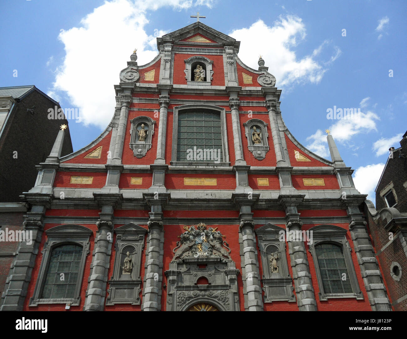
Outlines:
<svg viewBox="0 0 407 339"><path fill-rule="evenodd" d="M219 113L221 118L221 133L222 133L222 161L219 163L210 161L178 161L178 114L183 111L204 110ZM173 112L173 139L171 152L171 165L189 166L191 164L197 166L230 166L229 149L228 149L228 133L226 129L226 110L223 107L215 105L197 105L188 104L174 107Z"/></svg>

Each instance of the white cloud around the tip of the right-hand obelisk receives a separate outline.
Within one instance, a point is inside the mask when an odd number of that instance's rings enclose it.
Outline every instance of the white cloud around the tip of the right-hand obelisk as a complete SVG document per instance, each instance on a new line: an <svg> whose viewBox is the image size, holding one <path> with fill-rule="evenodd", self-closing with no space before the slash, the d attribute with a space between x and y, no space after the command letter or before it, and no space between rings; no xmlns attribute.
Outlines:
<svg viewBox="0 0 407 339"><path fill-rule="evenodd" d="M333 120L335 122L330 125L328 129L335 141L345 143L349 142L356 134L377 131L376 120L380 120L380 118L373 112L361 112L360 118L358 119ZM313 135L309 136L306 140L310 142L310 144L306 146L309 150L322 157L327 157L329 155L326 134L322 133L320 129L318 129Z"/></svg>

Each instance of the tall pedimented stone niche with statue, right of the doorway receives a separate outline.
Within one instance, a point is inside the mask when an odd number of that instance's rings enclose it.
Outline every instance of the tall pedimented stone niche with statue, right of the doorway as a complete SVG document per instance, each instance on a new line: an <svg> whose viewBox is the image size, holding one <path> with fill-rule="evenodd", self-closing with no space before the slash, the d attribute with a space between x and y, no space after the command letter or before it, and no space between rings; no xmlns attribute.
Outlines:
<svg viewBox="0 0 407 339"><path fill-rule="evenodd" d="M280 231L285 234L283 228L271 224L264 225L255 231L263 267L261 282L265 292L264 302L282 300L295 302L293 281L288 270L286 243L279 241ZM273 257L276 258L274 263Z"/></svg>

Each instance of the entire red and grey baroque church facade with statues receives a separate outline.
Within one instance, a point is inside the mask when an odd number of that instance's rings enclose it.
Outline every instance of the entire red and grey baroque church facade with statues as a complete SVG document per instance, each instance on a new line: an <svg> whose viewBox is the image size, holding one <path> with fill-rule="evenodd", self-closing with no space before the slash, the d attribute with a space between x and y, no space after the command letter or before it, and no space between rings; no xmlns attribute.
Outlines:
<svg viewBox="0 0 407 339"><path fill-rule="evenodd" d="M136 51L105 131L24 192L1 310L391 311L354 187L289 132L281 90L196 22Z"/></svg>

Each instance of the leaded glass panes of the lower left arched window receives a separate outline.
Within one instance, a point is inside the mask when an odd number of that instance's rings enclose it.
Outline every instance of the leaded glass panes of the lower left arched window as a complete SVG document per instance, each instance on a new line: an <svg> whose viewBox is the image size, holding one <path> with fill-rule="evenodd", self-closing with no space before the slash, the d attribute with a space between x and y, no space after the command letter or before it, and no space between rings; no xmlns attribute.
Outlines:
<svg viewBox="0 0 407 339"><path fill-rule="evenodd" d="M78 283L82 247L66 244L52 250L42 299L73 299Z"/></svg>

